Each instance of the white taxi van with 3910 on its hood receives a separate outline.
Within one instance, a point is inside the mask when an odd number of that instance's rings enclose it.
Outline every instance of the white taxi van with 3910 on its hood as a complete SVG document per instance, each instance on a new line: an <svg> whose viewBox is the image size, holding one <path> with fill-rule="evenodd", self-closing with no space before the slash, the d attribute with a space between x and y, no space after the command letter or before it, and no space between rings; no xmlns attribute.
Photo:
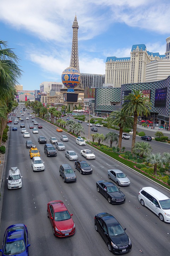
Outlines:
<svg viewBox="0 0 170 256"><path fill-rule="evenodd" d="M22 176L18 167L11 167L8 172L8 189L15 189L22 187Z"/></svg>

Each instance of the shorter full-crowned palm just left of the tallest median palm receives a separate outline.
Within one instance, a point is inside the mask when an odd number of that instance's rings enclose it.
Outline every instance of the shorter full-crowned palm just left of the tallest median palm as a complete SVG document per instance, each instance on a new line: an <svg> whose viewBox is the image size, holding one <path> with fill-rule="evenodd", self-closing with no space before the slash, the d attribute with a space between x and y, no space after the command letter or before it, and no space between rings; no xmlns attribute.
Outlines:
<svg viewBox="0 0 170 256"><path fill-rule="evenodd" d="M134 123L134 118L127 117L127 114L123 112L123 110L120 111L113 111L109 117L108 117L108 129L111 128L112 125L119 126L119 143L118 148L121 148L121 142L122 142L122 134L123 130L126 127L132 127Z"/></svg>

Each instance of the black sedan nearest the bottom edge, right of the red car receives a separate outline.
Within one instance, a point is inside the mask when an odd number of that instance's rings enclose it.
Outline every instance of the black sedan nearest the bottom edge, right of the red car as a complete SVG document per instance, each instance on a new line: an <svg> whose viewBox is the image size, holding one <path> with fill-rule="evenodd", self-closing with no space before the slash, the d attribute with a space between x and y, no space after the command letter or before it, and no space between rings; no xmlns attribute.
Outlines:
<svg viewBox="0 0 170 256"><path fill-rule="evenodd" d="M131 250L130 238L126 229L109 213L98 213L95 216L95 229L101 235L110 252L123 254Z"/></svg>

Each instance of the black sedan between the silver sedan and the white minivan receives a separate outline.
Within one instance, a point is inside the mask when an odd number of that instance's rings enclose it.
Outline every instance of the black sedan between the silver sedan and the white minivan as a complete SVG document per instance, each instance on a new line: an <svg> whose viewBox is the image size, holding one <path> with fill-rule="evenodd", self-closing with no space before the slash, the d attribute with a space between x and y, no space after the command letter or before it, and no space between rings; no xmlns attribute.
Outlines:
<svg viewBox="0 0 170 256"><path fill-rule="evenodd" d="M97 192L101 193L109 203L120 204L124 203L126 197L116 185L111 181L102 180L96 182Z"/></svg>

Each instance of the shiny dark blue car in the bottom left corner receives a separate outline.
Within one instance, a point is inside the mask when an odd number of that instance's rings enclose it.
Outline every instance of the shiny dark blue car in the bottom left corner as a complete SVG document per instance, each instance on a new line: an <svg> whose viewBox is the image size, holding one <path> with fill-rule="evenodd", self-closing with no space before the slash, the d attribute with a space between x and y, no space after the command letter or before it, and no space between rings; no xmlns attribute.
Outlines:
<svg viewBox="0 0 170 256"><path fill-rule="evenodd" d="M28 256L28 231L24 224L15 224L8 226L4 234L2 243L2 256Z"/></svg>

